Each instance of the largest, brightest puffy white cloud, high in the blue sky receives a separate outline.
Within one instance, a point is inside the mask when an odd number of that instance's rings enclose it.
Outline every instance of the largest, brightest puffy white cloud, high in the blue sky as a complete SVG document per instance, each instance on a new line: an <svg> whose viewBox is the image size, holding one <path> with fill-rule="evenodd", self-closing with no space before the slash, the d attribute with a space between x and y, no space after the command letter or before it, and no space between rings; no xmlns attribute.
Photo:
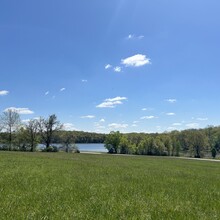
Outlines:
<svg viewBox="0 0 220 220"><path fill-rule="evenodd" d="M146 55L136 54L134 56L122 59L121 63L124 64L125 66L139 67L139 66L144 66L146 64L150 64L151 62L150 59L146 57Z"/></svg>

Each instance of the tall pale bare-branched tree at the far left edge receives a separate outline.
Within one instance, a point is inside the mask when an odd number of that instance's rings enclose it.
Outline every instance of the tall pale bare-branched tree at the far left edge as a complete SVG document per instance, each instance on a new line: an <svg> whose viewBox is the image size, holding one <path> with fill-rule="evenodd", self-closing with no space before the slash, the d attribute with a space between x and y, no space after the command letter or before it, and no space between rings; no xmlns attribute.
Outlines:
<svg viewBox="0 0 220 220"><path fill-rule="evenodd" d="M10 151L12 150L13 133L20 125L20 116L16 111L8 109L3 112L0 121L2 130L7 133L6 143L8 144L8 150Z"/></svg>

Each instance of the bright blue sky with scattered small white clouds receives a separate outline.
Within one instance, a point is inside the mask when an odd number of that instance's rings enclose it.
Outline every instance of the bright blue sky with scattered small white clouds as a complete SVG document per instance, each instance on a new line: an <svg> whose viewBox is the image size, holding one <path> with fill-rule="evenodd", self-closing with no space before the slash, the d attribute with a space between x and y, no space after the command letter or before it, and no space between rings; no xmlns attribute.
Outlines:
<svg viewBox="0 0 220 220"><path fill-rule="evenodd" d="M66 130L220 125L219 0L1 0L0 112Z"/></svg>

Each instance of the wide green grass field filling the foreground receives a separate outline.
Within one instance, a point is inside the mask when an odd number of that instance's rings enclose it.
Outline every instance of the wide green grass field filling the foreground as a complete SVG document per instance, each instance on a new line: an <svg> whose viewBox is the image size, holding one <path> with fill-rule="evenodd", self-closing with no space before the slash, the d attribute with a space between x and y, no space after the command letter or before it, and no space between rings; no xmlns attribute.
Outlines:
<svg viewBox="0 0 220 220"><path fill-rule="evenodd" d="M0 152L0 219L220 219L220 163Z"/></svg>

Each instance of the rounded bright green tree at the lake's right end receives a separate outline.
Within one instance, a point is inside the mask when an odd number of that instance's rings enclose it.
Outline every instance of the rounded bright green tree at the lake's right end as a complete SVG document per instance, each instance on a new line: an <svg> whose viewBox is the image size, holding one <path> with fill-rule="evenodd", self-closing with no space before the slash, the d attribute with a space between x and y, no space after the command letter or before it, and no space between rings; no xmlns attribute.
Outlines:
<svg viewBox="0 0 220 220"><path fill-rule="evenodd" d="M118 153L119 144L121 140L121 134L119 131L111 131L106 140L105 140L105 148L109 151L109 153Z"/></svg>

